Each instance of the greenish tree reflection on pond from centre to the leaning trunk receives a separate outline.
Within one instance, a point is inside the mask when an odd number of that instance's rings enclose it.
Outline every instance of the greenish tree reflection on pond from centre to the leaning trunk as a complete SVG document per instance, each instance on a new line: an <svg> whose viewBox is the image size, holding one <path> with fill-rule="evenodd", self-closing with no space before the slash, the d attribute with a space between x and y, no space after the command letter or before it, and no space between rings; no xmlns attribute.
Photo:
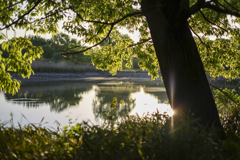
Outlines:
<svg viewBox="0 0 240 160"><path fill-rule="evenodd" d="M125 117L127 113L131 112L136 106L136 101L131 98L131 94L140 92L141 88L143 88L145 93L158 99L158 103L168 103L165 87L161 81L130 82L130 84L127 85L127 88L126 85L127 82L115 84L108 82L98 84L96 97L92 103L93 114L96 120L109 119L111 111L113 118ZM123 100L124 105L122 106L118 103L116 108L112 110L110 105L113 97L117 97L118 102Z"/></svg>

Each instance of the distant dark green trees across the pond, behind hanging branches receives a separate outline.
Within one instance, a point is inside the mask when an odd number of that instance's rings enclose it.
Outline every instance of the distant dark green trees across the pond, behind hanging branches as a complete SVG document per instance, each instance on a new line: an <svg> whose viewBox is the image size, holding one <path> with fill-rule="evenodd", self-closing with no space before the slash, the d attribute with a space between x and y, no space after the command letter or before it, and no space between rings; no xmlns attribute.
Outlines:
<svg viewBox="0 0 240 160"><path fill-rule="evenodd" d="M115 33L120 34L120 38L131 39L127 34L121 34L119 31L115 31ZM29 35L30 41L34 46L40 46L44 50L44 53L41 56L41 60L49 61L49 62L73 62L76 64L91 64L91 56L82 54L71 55L71 57L63 57L61 52L68 48L73 51L81 51L84 50L87 46L82 46L81 41L77 40L76 38L71 38L69 35L65 33L58 33L52 35L50 39L43 38L39 35ZM109 43L114 46L116 45L116 40L111 37L100 44L100 47L104 47L109 45ZM0 44L2 45L2 44ZM0 47L1 48L1 47ZM2 50L3 57L7 58L9 53ZM24 51L23 51L24 53ZM132 59L133 64L132 68L139 68L138 62L139 60L136 57ZM123 68L125 68L125 63L123 63Z"/></svg>

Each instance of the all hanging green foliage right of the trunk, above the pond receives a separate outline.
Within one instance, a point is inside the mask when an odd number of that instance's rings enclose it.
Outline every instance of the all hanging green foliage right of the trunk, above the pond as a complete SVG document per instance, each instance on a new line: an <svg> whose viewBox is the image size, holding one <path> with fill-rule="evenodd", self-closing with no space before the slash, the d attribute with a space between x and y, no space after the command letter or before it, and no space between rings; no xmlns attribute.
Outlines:
<svg viewBox="0 0 240 160"><path fill-rule="evenodd" d="M193 5L196 0L190 2ZM221 0L219 4L223 8L228 8L228 4L239 8L237 0ZM202 13L197 12L188 19L194 32L202 35L202 42L198 38L195 40L205 71L211 77L239 78L239 20L239 17L218 13L209 8L202 9ZM207 37L215 37L216 40Z"/></svg>

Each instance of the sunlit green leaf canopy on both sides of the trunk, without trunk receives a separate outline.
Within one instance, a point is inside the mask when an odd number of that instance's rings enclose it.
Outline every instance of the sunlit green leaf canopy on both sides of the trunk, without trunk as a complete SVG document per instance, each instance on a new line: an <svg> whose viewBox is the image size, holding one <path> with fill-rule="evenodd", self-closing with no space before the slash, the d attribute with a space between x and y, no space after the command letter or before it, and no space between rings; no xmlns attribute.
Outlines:
<svg viewBox="0 0 240 160"><path fill-rule="evenodd" d="M164 5L165 1L158 1L158 3ZM235 79L240 73L239 3L238 0L190 0L189 8L186 9L187 14L184 16L193 34L197 37L196 43L206 72L213 77L222 75ZM140 6L141 1L137 0L9 0L7 2L0 0L0 30L21 28L32 30L35 34L55 34L61 26L69 34L81 37L81 44L92 45L80 51L76 51L76 46L74 46L63 50L62 55L71 56L84 52L92 57L92 62L97 68L109 70L112 74L122 69L123 60L128 61L127 66L131 66L131 57L135 56L140 59L139 66L147 70L154 79L158 77L159 65L148 24ZM121 28L126 28L129 32L139 31L139 42L133 44L129 39L120 39L120 35L114 31ZM203 36L215 36L217 39L227 37L228 40L212 41L209 38L201 38ZM6 35L2 33L0 38L6 41L5 37ZM96 47L109 37L116 42L114 46ZM11 66L13 60L19 59L24 63L19 62L15 64L18 67L9 68L23 77L30 76L26 73L32 73L31 67L26 63L30 64L42 53L42 50L33 49L33 46L31 49L29 44L27 46L29 56L26 55L28 59L24 59L23 54L19 52L23 48L13 47L12 41L20 44L23 43L22 41L27 42L27 39L13 39L2 46L4 49L8 44L8 48L13 48L11 52L14 55L9 56L8 61L1 60L2 77L11 79L9 70L3 66L7 64ZM3 82L6 84L2 85ZM13 93L14 85L10 87L10 90L6 88L10 82L19 84L17 81L7 81L6 78L1 78L1 89ZM15 90L17 86L19 85L15 85Z"/></svg>

